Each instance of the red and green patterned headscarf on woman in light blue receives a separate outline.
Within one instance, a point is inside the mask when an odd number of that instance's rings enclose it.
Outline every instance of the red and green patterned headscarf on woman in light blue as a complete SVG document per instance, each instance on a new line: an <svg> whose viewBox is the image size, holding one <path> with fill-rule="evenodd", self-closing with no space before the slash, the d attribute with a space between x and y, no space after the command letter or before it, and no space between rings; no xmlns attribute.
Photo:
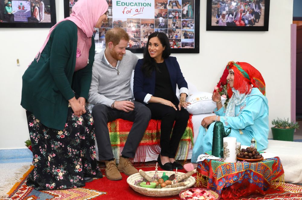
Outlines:
<svg viewBox="0 0 302 200"><path fill-rule="evenodd" d="M257 87L265 96L265 82L260 72L247 62L229 62L227 69L234 71L234 89L240 94L249 94L252 87ZM227 86L227 93L232 97L233 92L230 85Z"/></svg>

